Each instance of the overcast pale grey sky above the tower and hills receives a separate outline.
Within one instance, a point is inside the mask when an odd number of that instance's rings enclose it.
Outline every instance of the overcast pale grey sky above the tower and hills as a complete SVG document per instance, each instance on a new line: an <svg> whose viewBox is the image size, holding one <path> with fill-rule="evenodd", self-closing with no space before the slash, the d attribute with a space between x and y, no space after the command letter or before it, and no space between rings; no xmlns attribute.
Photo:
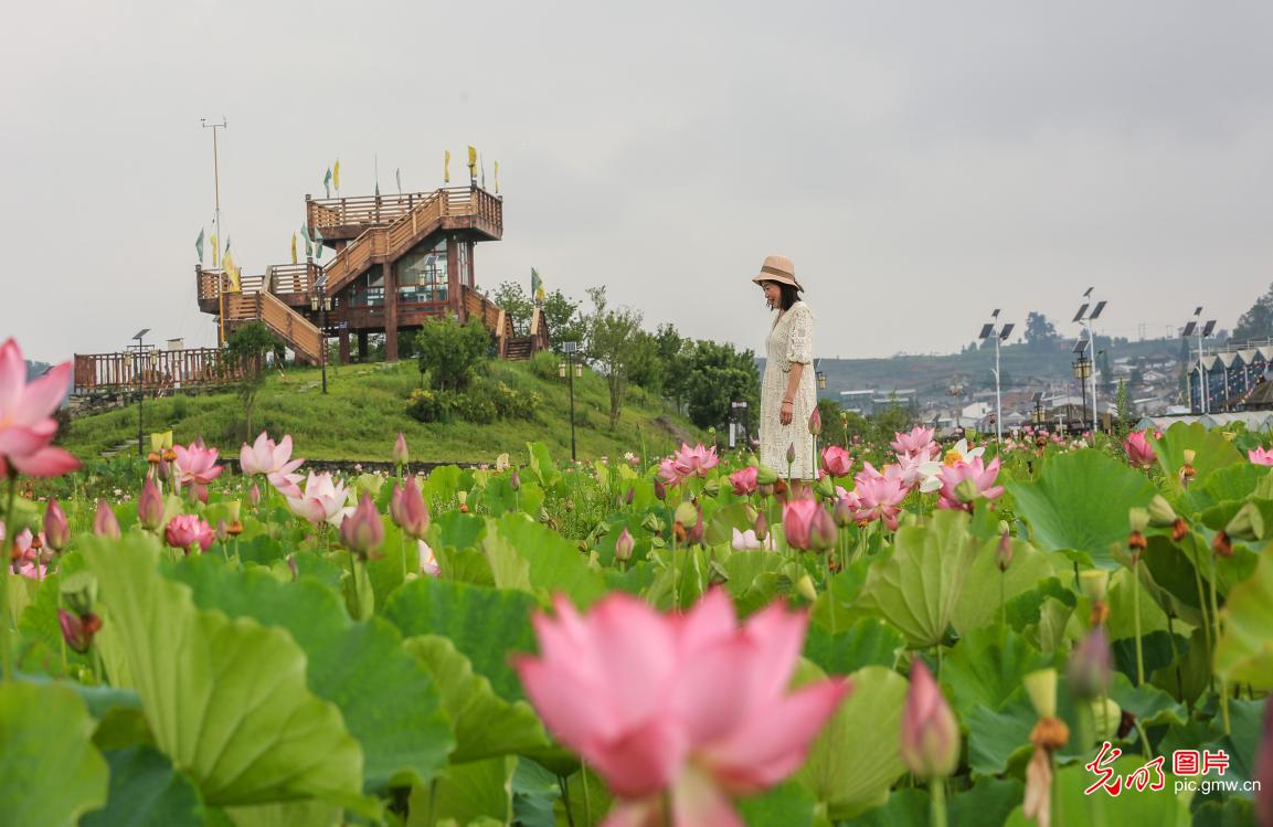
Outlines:
<svg viewBox="0 0 1273 827"><path fill-rule="evenodd" d="M761 351L796 262L822 356L947 352L994 307L1150 336L1273 281L1273 4L28 3L0 50L0 336L215 342L195 238L289 261L304 193L500 163L480 285L530 280Z"/></svg>

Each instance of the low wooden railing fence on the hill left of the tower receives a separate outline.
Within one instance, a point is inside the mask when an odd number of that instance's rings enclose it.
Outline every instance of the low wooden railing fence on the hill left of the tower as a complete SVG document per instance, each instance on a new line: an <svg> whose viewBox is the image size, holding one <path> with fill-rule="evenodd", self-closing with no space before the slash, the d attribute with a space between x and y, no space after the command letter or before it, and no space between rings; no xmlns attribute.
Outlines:
<svg viewBox="0 0 1273 827"><path fill-rule="evenodd" d="M73 393L146 392L227 384L242 379L241 365L216 347L150 350L143 354L75 354Z"/></svg>

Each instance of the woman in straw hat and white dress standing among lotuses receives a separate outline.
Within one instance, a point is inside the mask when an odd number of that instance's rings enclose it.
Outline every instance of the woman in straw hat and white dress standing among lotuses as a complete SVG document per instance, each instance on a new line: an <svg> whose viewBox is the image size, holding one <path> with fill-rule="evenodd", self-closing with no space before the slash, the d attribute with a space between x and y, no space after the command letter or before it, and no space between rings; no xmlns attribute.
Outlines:
<svg viewBox="0 0 1273 827"><path fill-rule="evenodd" d="M765 338L765 377L760 384L760 462L793 480L813 480L813 435L808 417L817 406L813 372L813 312L799 299L796 266L785 256L765 258L752 279L778 310ZM788 464L788 449L794 457Z"/></svg>

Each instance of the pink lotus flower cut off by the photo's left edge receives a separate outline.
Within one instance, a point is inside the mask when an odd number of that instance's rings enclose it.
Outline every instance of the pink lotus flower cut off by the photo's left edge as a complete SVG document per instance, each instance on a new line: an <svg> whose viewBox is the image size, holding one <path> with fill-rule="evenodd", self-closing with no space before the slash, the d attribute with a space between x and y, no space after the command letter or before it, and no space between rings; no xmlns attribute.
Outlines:
<svg viewBox="0 0 1273 827"><path fill-rule="evenodd" d="M27 383L27 361L13 338L0 345L0 477L13 472L56 477L79 468L79 459L50 443L57 433L53 412L71 384L71 363Z"/></svg>

